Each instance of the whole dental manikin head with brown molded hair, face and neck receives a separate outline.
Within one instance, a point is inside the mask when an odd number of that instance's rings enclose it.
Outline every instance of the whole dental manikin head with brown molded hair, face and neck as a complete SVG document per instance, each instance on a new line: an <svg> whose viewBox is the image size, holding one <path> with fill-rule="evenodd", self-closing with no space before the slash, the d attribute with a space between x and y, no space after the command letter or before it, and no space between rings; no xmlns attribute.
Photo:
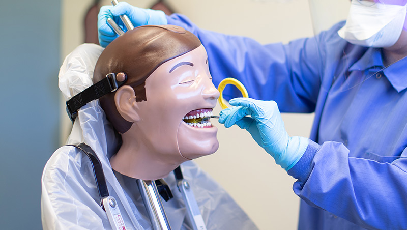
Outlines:
<svg viewBox="0 0 407 230"><path fill-rule="evenodd" d="M173 25L126 32L102 52L93 79L120 72L127 75L126 83L100 98L122 136L122 146L110 159L114 170L156 180L218 149L217 128L209 119L184 119L209 117L219 97L206 50L192 33Z"/></svg>

